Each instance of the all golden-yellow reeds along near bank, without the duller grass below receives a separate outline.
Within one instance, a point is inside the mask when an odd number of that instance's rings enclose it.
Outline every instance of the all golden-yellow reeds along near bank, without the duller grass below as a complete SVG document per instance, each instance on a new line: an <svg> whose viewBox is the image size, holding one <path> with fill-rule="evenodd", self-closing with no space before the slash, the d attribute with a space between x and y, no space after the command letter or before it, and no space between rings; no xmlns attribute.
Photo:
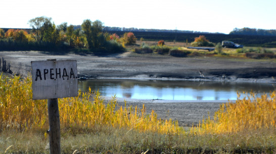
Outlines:
<svg viewBox="0 0 276 154"><path fill-rule="evenodd" d="M48 128L46 100L32 100L31 79L0 75L0 130L35 130ZM139 132L179 134L185 131L177 121L162 121L154 111L118 107L114 98L104 103L100 93L80 92L77 97L59 99L61 128L70 130L90 129L95 126L127 128ZM222 104L213 120L204 119L191 128L192 134L238 133L243 131L272 130L276 128L276 96L237 99L235 103Z"/></svg>

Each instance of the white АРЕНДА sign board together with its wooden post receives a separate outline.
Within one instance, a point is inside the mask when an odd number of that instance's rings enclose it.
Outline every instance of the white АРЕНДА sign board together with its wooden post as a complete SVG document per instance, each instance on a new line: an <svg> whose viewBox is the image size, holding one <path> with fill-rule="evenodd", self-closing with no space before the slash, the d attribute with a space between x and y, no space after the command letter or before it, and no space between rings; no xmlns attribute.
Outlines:
<svg viewBox="0 0 276 154"><path fill-rule="evenodd" d="M60 154L58 98L74 97L77 90L77 61L32 61L32 99L48 99L49 144L51 154Z"/></svg>

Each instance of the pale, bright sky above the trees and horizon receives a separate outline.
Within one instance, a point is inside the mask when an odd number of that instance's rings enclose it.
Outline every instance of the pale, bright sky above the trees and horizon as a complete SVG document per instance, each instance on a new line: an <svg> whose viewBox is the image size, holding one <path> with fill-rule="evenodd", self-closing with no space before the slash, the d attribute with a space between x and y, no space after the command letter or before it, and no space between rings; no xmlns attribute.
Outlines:
<svg viewBox="0 0 276 154"><path fill-rule="evenodd" d="M234 28L276 29L275 0L2 0L1 28L30 28L35 17L59 25L100 20L104 26L228 34Z"/></svg>

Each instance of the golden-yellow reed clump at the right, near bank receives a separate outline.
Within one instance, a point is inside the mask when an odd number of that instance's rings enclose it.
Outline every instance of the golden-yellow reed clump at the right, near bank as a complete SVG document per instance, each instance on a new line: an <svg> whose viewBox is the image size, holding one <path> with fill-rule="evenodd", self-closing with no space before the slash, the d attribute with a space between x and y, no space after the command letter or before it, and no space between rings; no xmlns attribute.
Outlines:
<svg viewBox="0 0 276 154"><path fill-rule="evenodd" d="M254 130L276 129L276 96L275 91L256 97L254 93L238 99L236 103L228 102L222 104L220 109L215 112L214 119L202 120L193 131L204 133L229 133Z"/></svg>

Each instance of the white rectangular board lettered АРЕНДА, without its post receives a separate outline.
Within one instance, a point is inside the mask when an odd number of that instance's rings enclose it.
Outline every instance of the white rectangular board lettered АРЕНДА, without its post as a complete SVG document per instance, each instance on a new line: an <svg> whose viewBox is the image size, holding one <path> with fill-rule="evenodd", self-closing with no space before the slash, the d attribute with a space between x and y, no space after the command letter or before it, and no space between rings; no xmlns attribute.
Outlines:
<svg viewBox="0 0 276 154"><path fill-rule="evenodd" d="M77 61L32 61L32 99L78 95Z"/></svg>

